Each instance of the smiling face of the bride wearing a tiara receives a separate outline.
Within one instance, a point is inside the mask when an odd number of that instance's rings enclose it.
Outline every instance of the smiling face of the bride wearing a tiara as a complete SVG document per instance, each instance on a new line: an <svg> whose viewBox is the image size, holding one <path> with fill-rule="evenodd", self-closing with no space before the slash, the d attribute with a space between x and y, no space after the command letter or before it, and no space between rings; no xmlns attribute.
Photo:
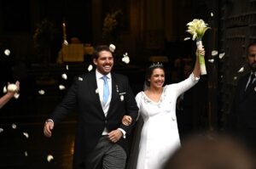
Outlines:
<svg viewBox="0 0 256 169"><path fill-rule="evenodd" d="M148 82L150 82L150 87L163 87L165 83L165 71L160 68L154 69Z"/></svg>

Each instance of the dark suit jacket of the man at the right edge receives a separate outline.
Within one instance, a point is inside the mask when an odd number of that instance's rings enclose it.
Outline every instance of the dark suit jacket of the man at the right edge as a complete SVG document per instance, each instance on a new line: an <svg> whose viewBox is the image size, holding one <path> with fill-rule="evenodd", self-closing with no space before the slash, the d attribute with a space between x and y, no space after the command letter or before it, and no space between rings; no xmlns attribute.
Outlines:
<svg viewBox="0 0 256 169"><path fill-rule="evenodd" d="M227 128L249 143L256 143L256 82L245 91L250 74L241 76Z"/></svg>

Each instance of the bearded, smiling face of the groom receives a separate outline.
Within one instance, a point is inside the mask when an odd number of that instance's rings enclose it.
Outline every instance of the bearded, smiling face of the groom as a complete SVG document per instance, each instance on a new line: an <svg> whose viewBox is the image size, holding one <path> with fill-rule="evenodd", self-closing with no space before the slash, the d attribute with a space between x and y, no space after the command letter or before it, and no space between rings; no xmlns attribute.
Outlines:
<svg viewBox="0 0 256 169"><path fill-rule="evenodd" d="M111 52L102 51L99 53L97 59L93 59L96 69L102 73L102 75L107 75L113 67L113 55Z"/></svg>

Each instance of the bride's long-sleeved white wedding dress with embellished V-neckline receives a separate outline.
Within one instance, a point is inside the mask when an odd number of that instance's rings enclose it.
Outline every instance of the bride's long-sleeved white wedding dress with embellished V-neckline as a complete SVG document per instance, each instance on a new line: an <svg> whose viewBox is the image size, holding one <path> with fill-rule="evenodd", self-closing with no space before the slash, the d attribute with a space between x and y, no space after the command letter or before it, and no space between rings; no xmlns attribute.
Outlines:
<svg viewBox="0 0 256 169"><path fill-rule="evenodd" d="M198 80L191 74L183 82L166 85L157 103L144 92L137 93L137 105L144 121L137 169L160 169L180 146L176 119L177 97Z"/></svg>

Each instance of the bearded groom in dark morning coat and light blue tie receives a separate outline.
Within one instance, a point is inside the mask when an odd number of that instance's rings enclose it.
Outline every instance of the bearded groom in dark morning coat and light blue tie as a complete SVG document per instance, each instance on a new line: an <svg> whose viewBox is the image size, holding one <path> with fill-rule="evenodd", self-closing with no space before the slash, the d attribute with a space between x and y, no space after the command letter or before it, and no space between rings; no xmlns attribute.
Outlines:
<svg viewBox="0 0 256 169"><path fill-rule="evenodd" d="M128 138L134 121L125 126L124 115L137 119L137 103L128 78L112 73L113 54L97 46L93 54L96 71L79 76L44 124L50 137L55 123L78 107L78 133L73 169L124 169ZM105 81L104 78L107 80Z"/></svg>

